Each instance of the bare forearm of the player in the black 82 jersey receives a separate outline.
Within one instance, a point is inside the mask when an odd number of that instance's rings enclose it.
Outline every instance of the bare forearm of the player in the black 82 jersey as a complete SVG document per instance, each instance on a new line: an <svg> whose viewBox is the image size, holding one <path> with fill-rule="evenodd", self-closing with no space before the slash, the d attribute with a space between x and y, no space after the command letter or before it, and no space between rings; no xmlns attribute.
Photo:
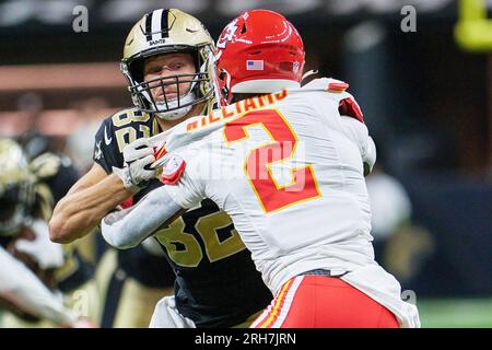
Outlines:
<svg viewBox="0 0 492 350"><path fill-rule="evenodd" d="M106 174L94 163L55 207L49 221L49 237L70 243L91 233L101 219L132 195L115 174Z"/></svg>

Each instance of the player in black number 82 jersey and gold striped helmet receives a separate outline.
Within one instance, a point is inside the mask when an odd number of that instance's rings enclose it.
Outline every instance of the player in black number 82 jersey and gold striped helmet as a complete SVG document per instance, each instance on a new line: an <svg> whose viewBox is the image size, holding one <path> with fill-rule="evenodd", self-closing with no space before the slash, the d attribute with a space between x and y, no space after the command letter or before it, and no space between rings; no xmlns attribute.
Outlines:
<svg viewBox="0 0 492 350"><path fill-rule="evenodd" d="M212 109L218 96L213 55L210 34L187 13L160 9L137 22L121 61L136 107L103 121L92 170L55 209L54 241L86 235L115 207L162 186L149 167L154 151L144 138ZM164 260L149 258L159 242L175 272L174 299L160 305L176 307L197 327L247 326L271 300L231 219L213 201L203 200L154 236L139 250L118 252L120 281L131 276L141 284L171 282ZM159 317L153 325L172 326Z"/></svg>

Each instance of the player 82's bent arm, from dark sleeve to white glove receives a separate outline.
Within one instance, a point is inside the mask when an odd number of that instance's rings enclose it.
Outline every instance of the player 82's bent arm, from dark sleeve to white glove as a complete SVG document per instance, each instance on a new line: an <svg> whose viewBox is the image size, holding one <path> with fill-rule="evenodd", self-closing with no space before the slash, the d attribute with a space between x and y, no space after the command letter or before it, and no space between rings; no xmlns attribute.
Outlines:
<svg viewBox="0 0 492 350"><path fill-rule="evenodd" d="M155 170L148 168L155 160L149 141L138 139L120 150L112 120L103 121L95 135L93 167L55 207L49 222L55 242L70 243L87 235L105 214L155 175Z"/></svg>

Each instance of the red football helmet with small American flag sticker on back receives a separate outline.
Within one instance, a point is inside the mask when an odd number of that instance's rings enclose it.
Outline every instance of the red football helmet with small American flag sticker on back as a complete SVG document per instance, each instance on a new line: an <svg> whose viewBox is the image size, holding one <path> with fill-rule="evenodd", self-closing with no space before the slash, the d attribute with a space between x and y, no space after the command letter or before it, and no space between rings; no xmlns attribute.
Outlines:
<svg viewBox="0 0 492 350"><path fill-rule="evenodd" d="M234 19L216 43L221 92L271 93L298 88L304 68L304 45L283 15L268 10L246 11Z"/></svg>

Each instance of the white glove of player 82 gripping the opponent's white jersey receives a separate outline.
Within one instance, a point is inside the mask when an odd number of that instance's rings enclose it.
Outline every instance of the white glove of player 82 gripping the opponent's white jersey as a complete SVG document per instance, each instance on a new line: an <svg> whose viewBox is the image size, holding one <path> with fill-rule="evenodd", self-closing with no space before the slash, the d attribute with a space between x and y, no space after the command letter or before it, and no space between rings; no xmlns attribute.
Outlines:
<svg viewBox="0 0 492 350"><path fill-rule="evenodd" d="M155 161L154 150L148 139L137 139L124 149L124 168L113 167L121 178L125 188L137 192L142 183L155 177L156 170L150 168ZM147 167L145 167L147 166Z"/></svg>

